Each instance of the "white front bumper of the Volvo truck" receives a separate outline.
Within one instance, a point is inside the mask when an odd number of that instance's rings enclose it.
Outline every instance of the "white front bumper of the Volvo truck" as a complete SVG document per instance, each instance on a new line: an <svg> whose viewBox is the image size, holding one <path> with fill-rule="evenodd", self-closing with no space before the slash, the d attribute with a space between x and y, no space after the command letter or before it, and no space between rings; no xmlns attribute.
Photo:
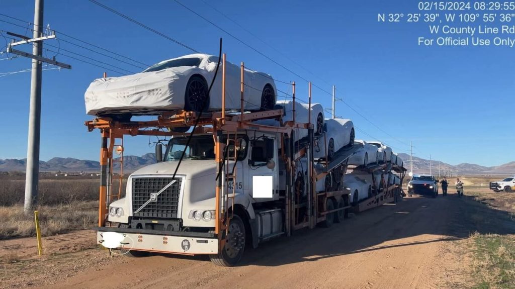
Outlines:
<svg viewBox="0 0 515 289"><path fill-rule="evenodd" d="M162 252L181 255L217 254L218 239L214 233L158 231L129 228L95 227L97 244L104 242L104 232L124 235L119 249Z"/></svg>

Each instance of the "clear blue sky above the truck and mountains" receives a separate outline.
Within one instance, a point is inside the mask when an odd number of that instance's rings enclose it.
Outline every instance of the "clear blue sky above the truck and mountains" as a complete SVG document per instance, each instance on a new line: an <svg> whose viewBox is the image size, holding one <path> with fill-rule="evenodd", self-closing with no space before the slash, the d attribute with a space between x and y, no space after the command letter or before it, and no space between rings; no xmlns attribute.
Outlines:
<svg viewBox="0 0 515 289"><path fill-rule="evenodd" d="M100 2L202 52L216 54L222 37L229 61L245 61L248 67L266 71L278 80L296 81L297 95L307 99L307 83L303 80L174 1ZM337 102L336 114L352 119L356 127L388 143L394 151L409 152L409 142L413 141L416 156L429 158L431 154L433 159L453 165L471 162L495 166L515 160L513 110L509 108L515 88L515 64L511 61L515 48L419 47L417 37L429 34L426 24L377 23L377 13L417 12L414 1L209 2L272 49L202 1L181 2L326 91L336 85L337 97L380 129L344 103ZM33 21L33 1L0 0L0 4L0 13ZM24 25L1 15L0 20ZM46 0L44 23L149 65L191 53L86 0ZM0 22L0 30L26 32L4 22ZM63 41L47 43L139 71ZM0 38L0 46L4 44ZM27 45L23 50L31 49ZM53 55L47 52L48 57ZM85 114L83 95L105 69L62 55L57 60L71 64L73 69L43 71L41 159L61 156L96 160L100 136L98 131L88 133L83 125L92 118ZM27 68L28 59L0 61L0 73ZM289 89L284 84L277 86L282 91ZM0 87L0 115L4 120L0 159L24 158L30 73L0 77ZM329 95L313 88L313 96L315 102L331 107ZM360 131L356 137L372 139ZM148 140L143 136L126 137L126 153L152 152Z"/></svg>

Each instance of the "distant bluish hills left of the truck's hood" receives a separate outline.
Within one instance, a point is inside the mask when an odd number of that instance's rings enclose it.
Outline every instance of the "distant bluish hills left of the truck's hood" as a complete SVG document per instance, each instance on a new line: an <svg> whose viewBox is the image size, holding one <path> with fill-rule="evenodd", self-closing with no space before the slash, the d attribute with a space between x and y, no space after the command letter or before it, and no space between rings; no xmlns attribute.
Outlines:
<svg viewBox="0 0 515 289"><path fill-rule="evenodd" d="M0 172L25 171L27 159L0 159ZM124 170L135 171L141 167L155 164L156 154L147 153L143 156L124 156ZM118 163L114 164L119 167ZM41 172L98 172L100 163L96 160L76 159L72 157L54 157L48 161L39 162Z"/></svg>

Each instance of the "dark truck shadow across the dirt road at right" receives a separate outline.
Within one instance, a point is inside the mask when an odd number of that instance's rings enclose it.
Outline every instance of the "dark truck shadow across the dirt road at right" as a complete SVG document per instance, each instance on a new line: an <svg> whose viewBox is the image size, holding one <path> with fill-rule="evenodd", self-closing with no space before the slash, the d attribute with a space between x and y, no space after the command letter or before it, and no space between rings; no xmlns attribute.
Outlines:
<svg viewBox="0 0 515 289"><path fill-rule="evenodd" d="M282 237L263 243L257 249L246 250L241 266L280 266L394 247L456 241L476 231L513 234L515 223L511 218L508 212L491 209L474 201L472 196L458 198L449 193L437 198L404 198L395 205L358 213L328 229L294 232L290 238ZM422 236L423 240L404 240L415 236Z"/></svg>

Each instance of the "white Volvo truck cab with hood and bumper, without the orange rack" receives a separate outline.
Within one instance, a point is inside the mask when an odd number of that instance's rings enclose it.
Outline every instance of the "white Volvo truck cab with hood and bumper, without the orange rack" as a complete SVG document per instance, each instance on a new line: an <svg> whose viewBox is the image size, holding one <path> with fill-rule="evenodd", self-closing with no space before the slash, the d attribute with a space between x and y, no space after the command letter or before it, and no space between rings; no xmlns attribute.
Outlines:
<svg viewBox="0 0 515 289"><path fill-rule="evenodd" d="M122 246L127 254L166 251L220 259L213 235L214 182L220 177L214 139L212 133L196 134L187 144L187 136L173 137L163 159L129 176L125 197L109 205L108 217L111 224L118 224L118 232L130 237ZM273 209L273 202L280 198L279 177L284 173L279 168L279 140L277 134L256 131L232 134L229 139L227 134L223 136L227 161L222 162L226 165L221 170L232 179L225 187L229 201L224 205L237 220L229 225L229 234L234 236L229 236L231 242L226 242L227 250L222 252L226 256L220 262L235 263L246 244L256 247L283 232L284 213ZM98 232L99 242L104 242L104 235Z"/></svg>

